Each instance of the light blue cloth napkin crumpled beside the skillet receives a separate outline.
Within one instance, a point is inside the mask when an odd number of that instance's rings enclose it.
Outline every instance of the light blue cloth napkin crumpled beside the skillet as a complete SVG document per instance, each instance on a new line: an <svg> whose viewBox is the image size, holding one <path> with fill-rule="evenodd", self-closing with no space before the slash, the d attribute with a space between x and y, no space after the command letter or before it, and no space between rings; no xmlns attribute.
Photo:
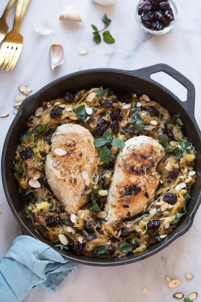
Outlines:
<svg viewBox="0 0 201 302"><path fill-rule="evenodd" d="M0 301L19 302L40 284L51 293L76 269L47 244L30 236L17 237L0 260Z"/></svg>

